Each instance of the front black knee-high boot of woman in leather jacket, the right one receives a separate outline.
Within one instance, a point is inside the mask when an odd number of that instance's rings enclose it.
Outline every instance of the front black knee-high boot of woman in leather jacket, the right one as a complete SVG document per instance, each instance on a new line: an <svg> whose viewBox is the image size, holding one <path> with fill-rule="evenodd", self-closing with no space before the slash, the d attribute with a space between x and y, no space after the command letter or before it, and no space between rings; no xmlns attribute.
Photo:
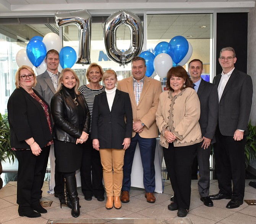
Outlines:
<svg viewBox="0 0 256 224"><path fill-rule="evenodd" d="M65 176L66 189L70 196L72 208L71 215L77 218L80 215L79 197L76 190L76 176Z"/></svg>

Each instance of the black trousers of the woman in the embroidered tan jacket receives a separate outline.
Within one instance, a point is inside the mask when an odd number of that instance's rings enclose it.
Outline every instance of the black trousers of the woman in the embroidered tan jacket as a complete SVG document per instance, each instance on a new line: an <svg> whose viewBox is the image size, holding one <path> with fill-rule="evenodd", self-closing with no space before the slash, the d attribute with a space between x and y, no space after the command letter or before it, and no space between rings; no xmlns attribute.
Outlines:
<svg viewBox="0 0 256 224"><path fill-rule="evenodd" d="M174 147L169 143L168 149L163 147L164 161L171 179L174 202L178 208L190 208L191 165L196 156L197 144Z"/></svg>

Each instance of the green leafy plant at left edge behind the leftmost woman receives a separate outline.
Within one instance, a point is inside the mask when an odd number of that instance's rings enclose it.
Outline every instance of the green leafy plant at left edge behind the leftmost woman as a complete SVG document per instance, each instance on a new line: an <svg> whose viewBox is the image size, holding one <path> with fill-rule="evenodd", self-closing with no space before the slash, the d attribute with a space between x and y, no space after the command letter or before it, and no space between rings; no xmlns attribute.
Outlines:
<svg viewBox="0 0 256 224"><path fill-rule="evenodd" d="M10 145L10 127L7 115L2 116L0 113L0 174L2 173L1 161L5 161L6 158L10 163L15 161L15 154Z"/></svg>

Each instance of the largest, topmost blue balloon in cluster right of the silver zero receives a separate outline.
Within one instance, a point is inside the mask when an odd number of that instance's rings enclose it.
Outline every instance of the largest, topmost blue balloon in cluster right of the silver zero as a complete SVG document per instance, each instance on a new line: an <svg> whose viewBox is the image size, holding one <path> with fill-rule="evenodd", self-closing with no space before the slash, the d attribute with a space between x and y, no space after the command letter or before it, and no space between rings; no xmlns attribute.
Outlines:
<svg viewBox="0 0 256 224"><path fill-rule="evenodd" d="M188 53L188 41L185 37L176 36L169 42L168 54L172 57L172 61L176 64L180 62Z"/></svg>

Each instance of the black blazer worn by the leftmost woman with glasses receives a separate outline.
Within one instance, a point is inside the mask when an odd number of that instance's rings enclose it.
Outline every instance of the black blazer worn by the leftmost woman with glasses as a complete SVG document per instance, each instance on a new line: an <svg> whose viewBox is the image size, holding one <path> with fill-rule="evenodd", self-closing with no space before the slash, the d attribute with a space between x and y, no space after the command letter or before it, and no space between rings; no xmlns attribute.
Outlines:
<svg viewBox="0 0 256 224"><path fill-rule="evenodd" d="M36 90L34 90L34 93L47 104ZM48 104L47 106L51 119L50 107ZM7 109L11 147L30 149L24 140L31 137L41 148L52 140L44 109L26 90L21 87L15 89L8 100Z"/></svg>

